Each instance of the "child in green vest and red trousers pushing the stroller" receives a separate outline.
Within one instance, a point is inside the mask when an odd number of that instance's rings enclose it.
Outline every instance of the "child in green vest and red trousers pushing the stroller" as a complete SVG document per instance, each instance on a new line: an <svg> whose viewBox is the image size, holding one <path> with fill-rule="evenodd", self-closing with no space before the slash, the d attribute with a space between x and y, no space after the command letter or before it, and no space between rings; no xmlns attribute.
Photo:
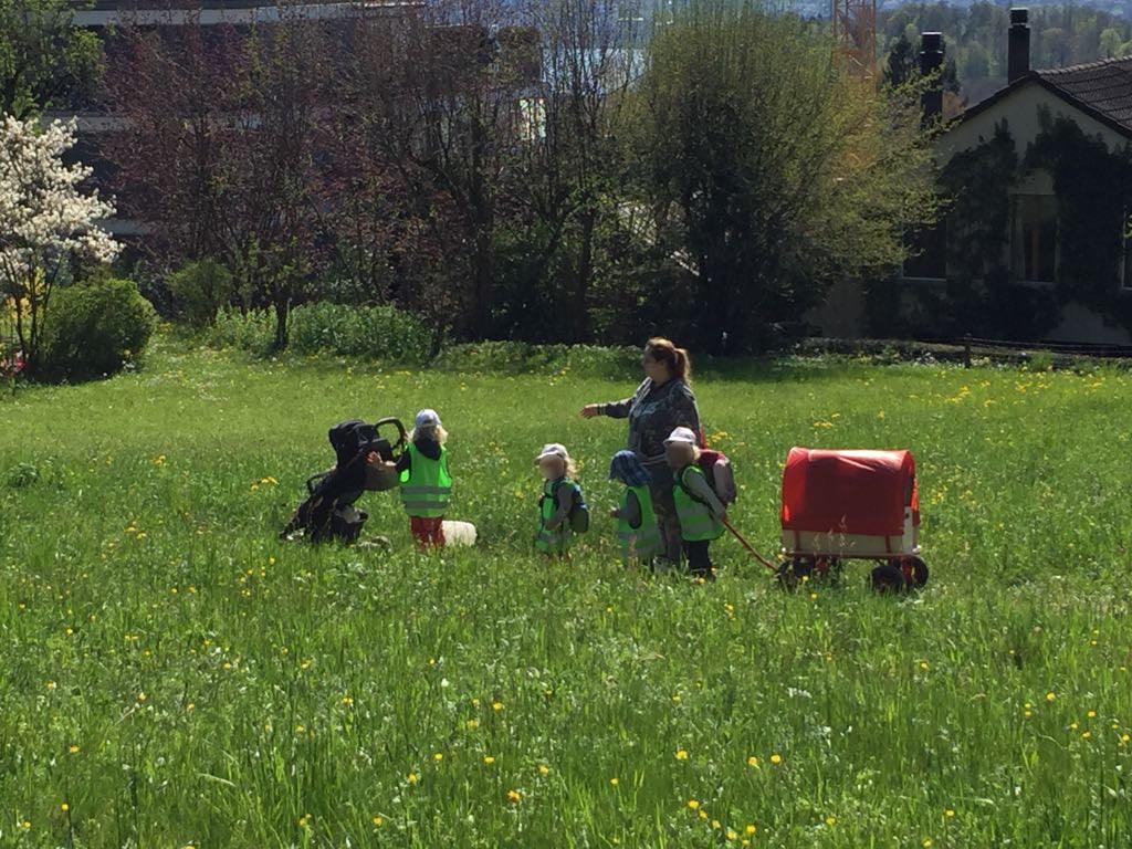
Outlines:
<svg viewBox="0 0 1132 849"><path fill-rule="evenodd" d="M421 410L413 421L409 446L393 465L401 473L401 503L409 514L409 526L417 547L424 551L441 547L444 515L452 498L448 471L448 431L436 410Z"/></svg>

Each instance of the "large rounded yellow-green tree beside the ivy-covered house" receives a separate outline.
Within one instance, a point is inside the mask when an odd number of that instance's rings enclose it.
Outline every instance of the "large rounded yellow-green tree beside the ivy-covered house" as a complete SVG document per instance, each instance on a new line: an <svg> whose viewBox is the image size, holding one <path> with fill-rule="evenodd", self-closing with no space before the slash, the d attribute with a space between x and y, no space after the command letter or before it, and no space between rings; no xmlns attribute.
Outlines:
<svg viewBox="0 0 1132 849"><path fill-rule="evenodd" d="M805 22L751 2L659 24L636 92L642 203L695 276L696 343L757 348L844 275L906 256L936 200L916 98L842 75Z"/></svg>

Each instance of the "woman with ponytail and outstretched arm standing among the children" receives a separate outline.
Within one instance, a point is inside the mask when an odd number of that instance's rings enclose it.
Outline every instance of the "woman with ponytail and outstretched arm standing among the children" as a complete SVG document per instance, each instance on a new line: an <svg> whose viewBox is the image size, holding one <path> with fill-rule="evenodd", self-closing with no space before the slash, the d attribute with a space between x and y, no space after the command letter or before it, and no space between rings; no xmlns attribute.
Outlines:
<svg viewBox="0 0 1132 849"><path fill-rule="evenodd" d="M674 564L680 560L680 522L672 500L672 470L664 461L664 440L676 428L689 428L700 443L700 408L692 392L692 361L688 352L667 338L651 338L641 358L644 381L631 397L608 404L588 404L582 415L608 415L629 420L628 449L651 479L652 506L657 512L663 554Z"/></svg>

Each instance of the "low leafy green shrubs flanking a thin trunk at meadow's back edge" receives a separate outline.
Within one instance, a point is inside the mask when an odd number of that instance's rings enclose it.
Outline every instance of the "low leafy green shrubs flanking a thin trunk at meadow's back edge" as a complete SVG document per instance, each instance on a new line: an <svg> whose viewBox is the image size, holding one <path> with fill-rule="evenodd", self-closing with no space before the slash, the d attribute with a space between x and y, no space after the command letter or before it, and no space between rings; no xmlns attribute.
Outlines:
<svg viewBox="0 0 1132 849"><path fill-rule="evenodd" d="M208 344L261 353L274 340L273 314L221 310L205 334ZM333 353L395 362L423 362L432 333L412 312L394 307L307 303L291 310L290 348L295 353Z"/></svg>

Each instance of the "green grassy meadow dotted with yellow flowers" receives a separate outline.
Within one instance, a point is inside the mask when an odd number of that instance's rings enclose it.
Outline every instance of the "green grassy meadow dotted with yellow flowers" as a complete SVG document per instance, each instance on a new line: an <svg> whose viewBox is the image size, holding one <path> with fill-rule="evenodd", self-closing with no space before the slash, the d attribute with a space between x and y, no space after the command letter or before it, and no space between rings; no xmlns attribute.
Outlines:
<svg viewBox="0 0 1132 849"><path fill-rule="evenodd" d="M1132 846L1132 378L784 361L697 375L778 547L790 446L908 447L916 597L626 573L624 374L249 360L0 397L0 847ZM327 427L435 406L475 549L276 540ZM532 457L594 508L531 550Z"/></svg>

